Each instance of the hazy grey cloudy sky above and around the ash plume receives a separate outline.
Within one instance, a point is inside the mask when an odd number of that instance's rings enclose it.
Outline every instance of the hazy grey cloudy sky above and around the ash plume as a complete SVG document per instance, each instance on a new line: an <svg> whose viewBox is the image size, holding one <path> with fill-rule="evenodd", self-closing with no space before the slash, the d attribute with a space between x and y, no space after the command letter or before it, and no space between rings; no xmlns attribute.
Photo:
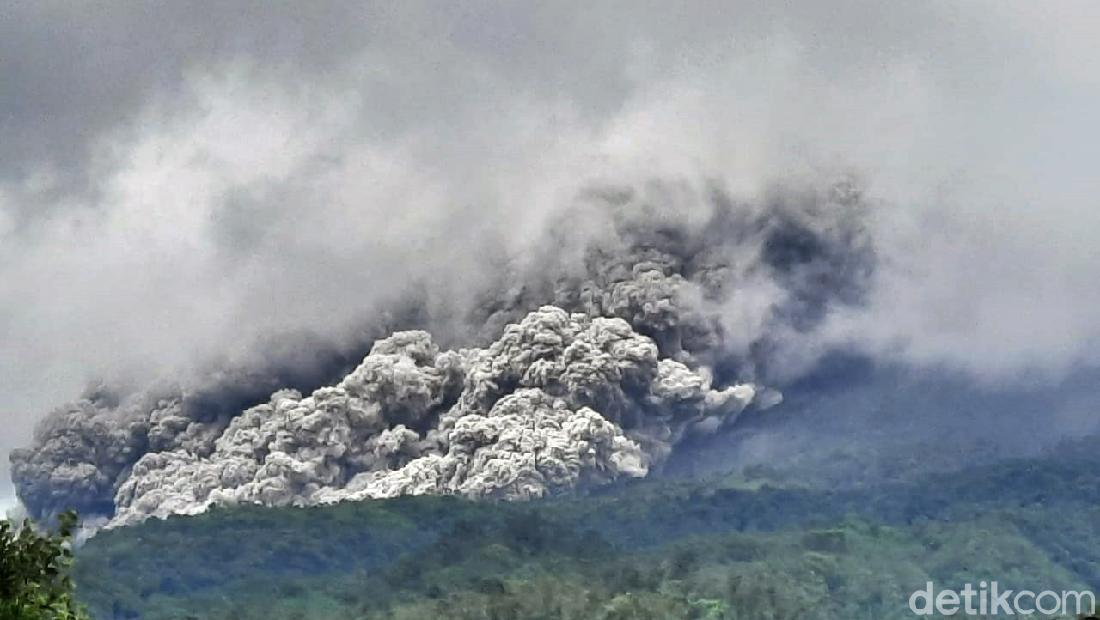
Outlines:
<svg viewBox="0 0 1100 620"><path fill-rule="evenodd" d="M887 268L821 346L1097 362L1100 3L591 4L6 3L0 455L89 378L461 288L592 178L855 173Z"/></svg>

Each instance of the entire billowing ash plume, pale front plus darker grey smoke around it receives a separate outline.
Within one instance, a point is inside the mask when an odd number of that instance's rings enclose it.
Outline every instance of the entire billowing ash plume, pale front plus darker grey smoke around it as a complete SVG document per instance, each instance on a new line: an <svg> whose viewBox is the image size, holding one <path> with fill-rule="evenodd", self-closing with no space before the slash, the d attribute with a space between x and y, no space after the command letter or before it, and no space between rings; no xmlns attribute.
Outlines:
<svg viewBox="0 0 1100 620"><path fill-rule="evenodd" d="M711 185L600 186L521 257L488 252L492 286L374 322L465 348L397 331L350 373L321 347L311 373L91 390L12 454L13 478L33 513L127 523L212 502L521 499L644 476L686 438L778 403L763 386L813 364L817 328L873 274L867 209L848 180L760 203ZM318 387L326 373L334 385Z"/></svg>

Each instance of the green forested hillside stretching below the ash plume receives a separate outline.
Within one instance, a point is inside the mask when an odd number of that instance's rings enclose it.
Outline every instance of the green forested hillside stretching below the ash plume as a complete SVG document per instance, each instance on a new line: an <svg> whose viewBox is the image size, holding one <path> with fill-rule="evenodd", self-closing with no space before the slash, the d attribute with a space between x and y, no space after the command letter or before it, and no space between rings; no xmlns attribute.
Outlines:
<svg viewBox="0 0 1100 620"><path fill-rule="evenodd" d="M75 577L102 619L912 618L927 580L1100 586L1100 456L844 491L727 478L218 509L102 532Z"/></svg>

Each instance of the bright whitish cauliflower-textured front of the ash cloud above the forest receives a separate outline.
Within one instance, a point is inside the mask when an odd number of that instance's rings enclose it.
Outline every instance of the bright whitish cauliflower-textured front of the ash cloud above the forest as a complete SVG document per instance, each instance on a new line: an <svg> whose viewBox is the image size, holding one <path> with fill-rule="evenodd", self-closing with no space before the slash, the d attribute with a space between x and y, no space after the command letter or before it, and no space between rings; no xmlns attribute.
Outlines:
<svg viewBox="0 0 1100 620"><path fill-rule="evenodd" d="M755 394L659 359L623 319L556 307L481 350L441 352L426 332L398 332L336 386L278 391L217 438L143 456L112 524L217 502L542 497L644 476L685 429L736 417Z"/></svg>

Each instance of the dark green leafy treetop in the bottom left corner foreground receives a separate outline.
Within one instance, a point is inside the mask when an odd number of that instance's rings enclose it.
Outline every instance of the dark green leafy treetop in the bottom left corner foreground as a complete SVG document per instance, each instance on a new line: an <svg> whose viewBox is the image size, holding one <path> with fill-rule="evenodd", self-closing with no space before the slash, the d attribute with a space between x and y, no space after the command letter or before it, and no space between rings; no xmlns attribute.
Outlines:
<svg viewBox="0 0 1100 620"><path fill-rule="evenodd" d="M0 620L81 620L68 578L76 514L58 518L57 531L16 529L0 520Z"/></svg>

